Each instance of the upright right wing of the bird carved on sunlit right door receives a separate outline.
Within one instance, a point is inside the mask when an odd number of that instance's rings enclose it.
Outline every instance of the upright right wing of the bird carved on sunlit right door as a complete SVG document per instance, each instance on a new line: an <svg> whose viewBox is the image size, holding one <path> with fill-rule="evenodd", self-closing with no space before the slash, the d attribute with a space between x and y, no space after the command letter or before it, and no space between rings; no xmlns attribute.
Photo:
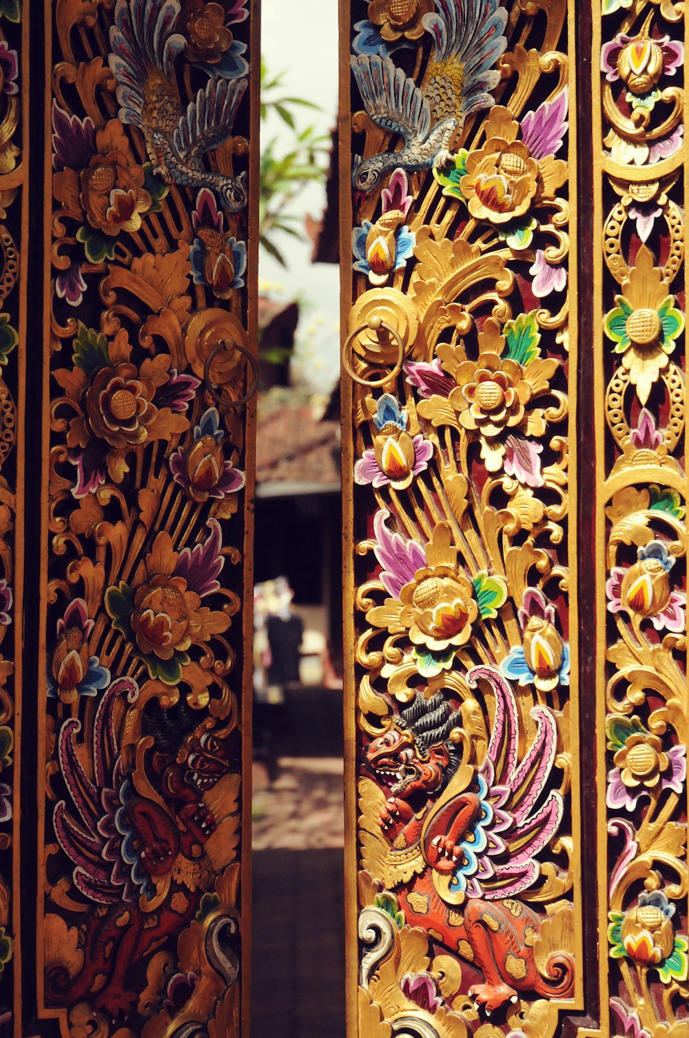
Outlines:
<svg viewBox="0 0 689 1038"><path fill-rule="evenodd" d="M507 40L507 11L499 0L435 0L436 12L423 19L434 38L421 89L434 124L467 115L494 104L491 90L500 82L494 67Z"/></svg>

